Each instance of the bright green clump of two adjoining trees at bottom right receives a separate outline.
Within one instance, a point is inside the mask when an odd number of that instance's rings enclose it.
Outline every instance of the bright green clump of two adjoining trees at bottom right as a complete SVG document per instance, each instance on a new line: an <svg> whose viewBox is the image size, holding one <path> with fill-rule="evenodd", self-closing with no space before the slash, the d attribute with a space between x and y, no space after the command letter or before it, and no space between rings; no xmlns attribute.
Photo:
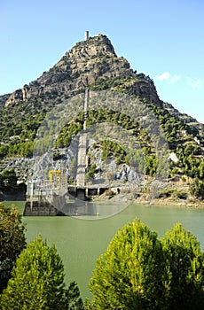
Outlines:
<svg viewBox="0 0 204 310"><path fill-rule="evenodd" d="M88 309L203 309L204 254L176 224L166 235L134 220L120 229L97 260Z"/></svg>

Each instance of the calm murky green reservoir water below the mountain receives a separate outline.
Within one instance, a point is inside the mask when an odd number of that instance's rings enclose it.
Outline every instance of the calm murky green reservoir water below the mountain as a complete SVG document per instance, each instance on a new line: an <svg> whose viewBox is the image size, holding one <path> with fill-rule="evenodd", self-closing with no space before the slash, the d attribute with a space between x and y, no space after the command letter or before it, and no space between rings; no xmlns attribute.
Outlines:
<svg viewBox="0 0 204 310"><path fill-rule="evenodd" d="M15 202L15 205L22 211L24 203ZM121 213L97 221L71 217L26 217L24 221L27 242L41 233L49 244L56 244L64 262L66 283L75 280L85 298L90 297L88 283L98 256L106 250L117 229L135 217L156 230L159 236L179 221L184 229L197 236L204 250L204 209L129 205Z"/></svg>

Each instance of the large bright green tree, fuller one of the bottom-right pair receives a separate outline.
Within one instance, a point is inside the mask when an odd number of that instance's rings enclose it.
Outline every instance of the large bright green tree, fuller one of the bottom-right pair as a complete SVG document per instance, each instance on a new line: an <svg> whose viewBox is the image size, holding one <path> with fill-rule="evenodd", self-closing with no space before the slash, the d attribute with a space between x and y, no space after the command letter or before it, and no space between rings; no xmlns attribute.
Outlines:
<svg viewBox="0 0 204 310"><path fill-rule="evenodd" d="M135 220L120 229L90 279L90 309L165 309L165 264L157 234Z"/></svg>

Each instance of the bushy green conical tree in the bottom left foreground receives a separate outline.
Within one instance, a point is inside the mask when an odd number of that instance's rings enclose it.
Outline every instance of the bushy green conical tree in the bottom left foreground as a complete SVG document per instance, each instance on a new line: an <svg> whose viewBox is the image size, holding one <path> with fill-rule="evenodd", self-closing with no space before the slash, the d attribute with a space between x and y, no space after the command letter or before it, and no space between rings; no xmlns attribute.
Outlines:
<svg viewBox="0 0 204 310"><path fill-rule="evenodd" d="M0 298L0 307L3 310L83 309L76 284L65 288L64 267L55 246L49 246L42 236L21 252Z"/></svg>

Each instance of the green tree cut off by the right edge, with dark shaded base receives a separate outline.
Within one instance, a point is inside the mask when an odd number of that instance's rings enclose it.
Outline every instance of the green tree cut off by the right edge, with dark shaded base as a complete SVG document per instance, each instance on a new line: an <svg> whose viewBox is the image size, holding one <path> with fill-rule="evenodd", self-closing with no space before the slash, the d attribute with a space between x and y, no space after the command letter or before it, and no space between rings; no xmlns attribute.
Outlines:
<svg viewBox="0 0 204 310"><path fill-rule="evenodd" d="M204 257L195 236L181 224L161 239L169 276L169 310L204 309Z"/></svg>

